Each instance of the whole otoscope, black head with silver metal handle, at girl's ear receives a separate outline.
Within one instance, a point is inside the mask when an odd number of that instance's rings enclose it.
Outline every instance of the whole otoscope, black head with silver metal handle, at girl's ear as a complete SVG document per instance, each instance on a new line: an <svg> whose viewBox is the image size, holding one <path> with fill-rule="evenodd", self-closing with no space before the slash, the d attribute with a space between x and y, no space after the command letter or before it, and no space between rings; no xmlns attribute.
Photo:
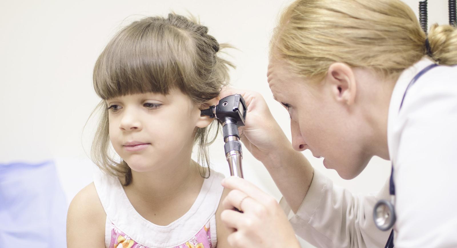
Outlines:
<svg viewBox="0 0 457 248"><path fill-rule="evenodd" d="M239 94L230 95L222 98L218 105L213 105L209 109L202 110L202 115L210 118L219 119L222 122L222 133L224 136L225 158L230 168L231 176L243 178L241 160L241 142L239 142L238 127L244 126L246 119L246 103Z"/></svg>

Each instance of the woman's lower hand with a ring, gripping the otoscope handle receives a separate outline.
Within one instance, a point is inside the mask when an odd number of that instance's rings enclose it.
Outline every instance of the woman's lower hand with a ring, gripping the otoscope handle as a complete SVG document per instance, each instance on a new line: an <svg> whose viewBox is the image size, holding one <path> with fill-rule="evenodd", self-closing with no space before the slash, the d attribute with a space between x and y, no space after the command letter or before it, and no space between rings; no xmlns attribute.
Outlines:
<svg viewBox="0 0 457 248"><path fill-rule="evenodd" d="M228 235L232 247L300 248L291 224L276 200L250 182L239 177L222 181L231 189L223 200L221 220L233 233ZM234 211L234 207L243 212Z"/></svg>

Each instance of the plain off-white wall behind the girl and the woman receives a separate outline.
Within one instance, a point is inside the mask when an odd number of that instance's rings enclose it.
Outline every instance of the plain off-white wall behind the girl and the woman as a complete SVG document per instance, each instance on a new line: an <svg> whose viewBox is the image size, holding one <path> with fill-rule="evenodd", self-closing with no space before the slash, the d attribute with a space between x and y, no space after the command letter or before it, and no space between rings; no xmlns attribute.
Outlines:
<svg viewBox="0 0 457 248"><path fill-rule="evenodd" d="M232 85L259 91L290 137L288 114L276 103L266 82L267 51L279 10L290 0L99 0L0 2L0 163L54 158L69 200L91 181L87 159L93 122L83 126L99 99L92 68L110 37L129 20L166 15L170 10L198 15L219 42L239 50L228 57L237 65ZM417 13L417 0L406 0ZM447 1L429 3L429 26L447 23ZM223 142L211 147L216 170L228 174ZM245 150L245 149L244 149ZM354 193L377 189L388 178L390 163L374 158L351 181L314 167ZM247 150L244 173L277 199L280 193L263 166Z"/></svg>

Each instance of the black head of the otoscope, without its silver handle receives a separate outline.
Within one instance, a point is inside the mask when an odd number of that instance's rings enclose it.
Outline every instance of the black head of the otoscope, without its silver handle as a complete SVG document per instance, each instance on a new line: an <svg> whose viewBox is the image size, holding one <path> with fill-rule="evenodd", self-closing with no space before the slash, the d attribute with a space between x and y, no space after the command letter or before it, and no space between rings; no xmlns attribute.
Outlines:
<svg viewBox="0 0 457 248"><path fill-rule="evenodd" d="M244 126L246 119L246 103L244 103L244 99L241 95L230 95L222 98L218 105L213 105L209 107L209 109L202 110L202 115L217 118L223 123L230 120L236 123L237 126Z"/></svg>

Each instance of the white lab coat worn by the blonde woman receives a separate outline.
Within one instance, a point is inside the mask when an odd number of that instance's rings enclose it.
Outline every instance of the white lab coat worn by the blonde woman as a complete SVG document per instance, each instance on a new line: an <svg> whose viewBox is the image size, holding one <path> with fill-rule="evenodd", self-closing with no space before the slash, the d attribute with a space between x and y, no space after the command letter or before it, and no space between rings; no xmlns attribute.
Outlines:
<svg viewBox="0 0 457 248"><path fill-rule="evenodd" d="M399 112L407 85L430 64L423 59L401 74L389 106L396 248L457 247L457 66L425 73ZM373 207L390 200L389 181L376 195L354 196L314 173L297 214L290 215L297 235L317 247L384 247L390 231L374 225Z"/></svg>

